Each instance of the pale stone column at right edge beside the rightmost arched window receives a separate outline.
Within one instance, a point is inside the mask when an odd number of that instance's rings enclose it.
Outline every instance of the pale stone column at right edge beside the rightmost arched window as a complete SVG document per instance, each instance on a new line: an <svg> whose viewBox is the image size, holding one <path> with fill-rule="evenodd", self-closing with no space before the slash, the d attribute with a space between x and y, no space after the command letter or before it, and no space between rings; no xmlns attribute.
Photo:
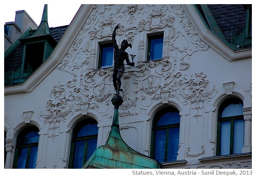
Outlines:
<svg viewBox="0 0 256 177"><path fill-rule="evenodd" d="M244 146L242 153L251 152L251 107L244 108Z"/></svg>

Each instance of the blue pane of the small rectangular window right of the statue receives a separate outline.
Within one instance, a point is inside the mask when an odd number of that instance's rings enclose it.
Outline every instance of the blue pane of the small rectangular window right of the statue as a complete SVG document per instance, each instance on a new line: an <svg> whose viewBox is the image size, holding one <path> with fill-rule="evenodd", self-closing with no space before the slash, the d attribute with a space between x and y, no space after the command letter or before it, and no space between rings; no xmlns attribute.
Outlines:
<svg viewBox="0 0 256 177"><path fill-rule="evenodd" d="M152 39L150 44L150 60L161 59L164 38Z"/></svg>

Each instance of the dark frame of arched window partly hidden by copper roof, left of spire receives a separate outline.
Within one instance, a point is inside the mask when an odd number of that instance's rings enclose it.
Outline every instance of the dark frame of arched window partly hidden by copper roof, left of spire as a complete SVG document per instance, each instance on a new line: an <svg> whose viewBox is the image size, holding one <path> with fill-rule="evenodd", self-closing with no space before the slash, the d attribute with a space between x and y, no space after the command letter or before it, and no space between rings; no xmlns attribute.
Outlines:
<svg viewBox="0 0 256 177"><path fill-rule="evenodd" d="M80 132L80 130L88 124L96 124L97 125L98 123L93 118L87 118L87 119L79 121L73 128L70 155L69 155L69 168L71 168L71 169L74 169L73 164L74 164L74 156L76 154L75 153L76 142L83 141L83 140L85 141L85 148L84 148L84 152L83 152L83 165L84 165L86 163L86 158L90 158L90 157L87 157L88 141L91 139L96 139L96 140L98 139L98 131L97 131L97 134L95 134L95 135L76 137L76 135L78 135L78 132ZM97 146L96 146L96 148L97 148Z"/></svg>

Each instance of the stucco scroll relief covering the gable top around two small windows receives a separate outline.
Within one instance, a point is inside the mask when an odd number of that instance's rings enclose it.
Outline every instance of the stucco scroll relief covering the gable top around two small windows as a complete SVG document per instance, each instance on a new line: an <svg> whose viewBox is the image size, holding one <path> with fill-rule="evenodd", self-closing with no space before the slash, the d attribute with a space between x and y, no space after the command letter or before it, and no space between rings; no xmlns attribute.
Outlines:
<svg viewBox="0 0 256 177"><path fill-rule="evenodd" d="M64 70L69 66L66 71L70 72L71 69L74 72L84 64L88 64L91 67L90 70L95 69L97 52L95 40L111 40L112 31L117 23L120 23L121 27L116 35L126 37L133 45L141 43L138 40L140 38L138 33L167 28L168 33L165 34L164 39L164 59L168 59L169 50L175 51L176 57L184 57L197 50L206 51L209 47L199 38L181 5L95 5L58 69ZM183 30L180 30L179 26ZM175 33L174 29L176 29ZM145 44L141 43L140 46L145 47ZM76 58L81 52L85 53L85 57ZM141 54L140 52L140 56ZM72 64L69 64L70 62Z"/></svg>

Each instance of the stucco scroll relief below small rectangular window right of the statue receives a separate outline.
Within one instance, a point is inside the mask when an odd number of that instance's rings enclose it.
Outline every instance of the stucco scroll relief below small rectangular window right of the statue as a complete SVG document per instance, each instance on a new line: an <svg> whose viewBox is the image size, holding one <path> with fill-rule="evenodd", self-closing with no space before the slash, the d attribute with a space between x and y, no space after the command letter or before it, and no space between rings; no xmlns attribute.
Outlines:
<svg viewBox="0 0 256 177"><path fill-rule="evenodd" d="M144 106L149 106L149 103L152 103L153 100L161 99L161 95L169 97L173 81L180 78L182 76L180 71L186 70L189 66L190 64L183 60L178 64L177 60L173 59L149 61L147 63L138 64L137 68L139 71L136 71L136 73L143 73L143 76L137 74L138 77L135 78L135 84L138 85L138 87L135 89L135 92L142 91L152 96L150 100L148 96L142 94L142 104L144 102ZM166 97L164 100L166 103L168 98Z"/></svg>

